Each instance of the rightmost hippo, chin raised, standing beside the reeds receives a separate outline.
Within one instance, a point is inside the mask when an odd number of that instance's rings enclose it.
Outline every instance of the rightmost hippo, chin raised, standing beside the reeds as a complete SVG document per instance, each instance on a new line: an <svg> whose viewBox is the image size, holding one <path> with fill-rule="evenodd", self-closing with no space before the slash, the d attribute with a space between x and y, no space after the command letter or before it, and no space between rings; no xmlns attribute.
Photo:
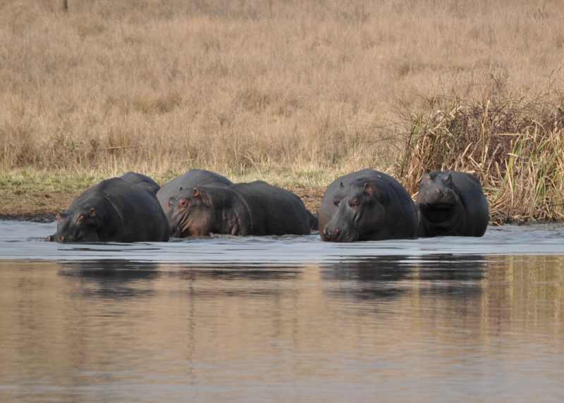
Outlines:
<svg viewBox="0 0 564 403"><path fill-rule="evenodd" d="M432 171L419 181L419 237L481 237L489 206L478 178L456 171Z"/></svg>

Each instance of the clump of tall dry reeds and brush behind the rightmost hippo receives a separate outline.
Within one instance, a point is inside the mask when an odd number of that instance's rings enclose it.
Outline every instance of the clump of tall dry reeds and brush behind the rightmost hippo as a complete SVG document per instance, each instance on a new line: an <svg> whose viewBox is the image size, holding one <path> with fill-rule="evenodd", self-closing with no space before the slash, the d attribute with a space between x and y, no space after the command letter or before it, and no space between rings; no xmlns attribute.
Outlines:
<svg viewBox="0 0 564 403"><path fill-rule="evenodd" d="M422 173L452 169L482 181L493 223L564 219L563 99L433 99L410 116L396 174L417 192Z"/></svg>

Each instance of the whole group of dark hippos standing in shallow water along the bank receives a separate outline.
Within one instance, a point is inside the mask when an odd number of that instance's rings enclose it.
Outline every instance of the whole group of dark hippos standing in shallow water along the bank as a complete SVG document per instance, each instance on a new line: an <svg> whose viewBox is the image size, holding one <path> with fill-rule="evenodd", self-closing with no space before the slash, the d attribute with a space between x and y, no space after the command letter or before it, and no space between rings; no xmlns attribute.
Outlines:
<svg viewBox="0 0 564 403"><path fill-rule="evenodd" d="M191 169L162 187L128 172L85 190L56 216L54 242L166 242L211 234L306 235L356 242L415 237L481 237L489 207L479 180L433 171L419 181L417 199L396 179L364 169L336 179L314 216L292 192L266 182L233 183Z"/></svg>

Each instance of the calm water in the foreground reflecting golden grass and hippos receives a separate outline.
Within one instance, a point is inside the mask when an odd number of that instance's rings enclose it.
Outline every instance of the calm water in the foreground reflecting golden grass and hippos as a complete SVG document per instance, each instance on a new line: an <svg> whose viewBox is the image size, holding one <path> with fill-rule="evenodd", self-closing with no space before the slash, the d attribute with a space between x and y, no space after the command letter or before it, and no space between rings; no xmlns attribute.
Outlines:
<svg viewBox="0 0 564 403"><path fill-rule="evenodd" d="M1 402L561 402L564 226L54 244L0 222Z"/></svg>

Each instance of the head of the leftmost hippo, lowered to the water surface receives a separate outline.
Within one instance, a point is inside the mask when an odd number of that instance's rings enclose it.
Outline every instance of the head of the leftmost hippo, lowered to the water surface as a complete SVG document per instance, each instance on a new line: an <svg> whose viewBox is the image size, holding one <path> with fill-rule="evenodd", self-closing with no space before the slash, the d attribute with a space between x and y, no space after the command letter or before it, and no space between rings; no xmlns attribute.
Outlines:
<svg viewBox="0 0 564 403"><path fill-rule="evenodd" d="M95 209L57 214L57 231L50 242L98 242L99 217Z"/></svg>

